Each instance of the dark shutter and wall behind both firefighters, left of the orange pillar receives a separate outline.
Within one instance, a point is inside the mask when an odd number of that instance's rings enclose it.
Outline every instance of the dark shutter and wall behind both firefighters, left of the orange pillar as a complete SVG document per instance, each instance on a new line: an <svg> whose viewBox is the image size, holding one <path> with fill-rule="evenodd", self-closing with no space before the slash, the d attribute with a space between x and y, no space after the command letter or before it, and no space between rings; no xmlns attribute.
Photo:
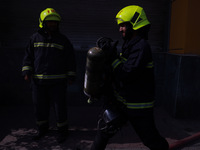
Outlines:
<svg viewBox="0 0 200 150"><path fill-rule="evenodd" d="M0 5L0 104L31 104L31 89L21 76L22 59L29 37L38 30L40 12L55 8L62 16L60 30L76 50L77 81L69 86L70 105L86 105L83 78L86 53L101 36L120 40L117 12L127 5L142 6L151 22L149 42L154 52L164 51L169 0L2 0ZM119 48L122 45L120 40ZM165 50L166 51L166 50Z"/></svg>

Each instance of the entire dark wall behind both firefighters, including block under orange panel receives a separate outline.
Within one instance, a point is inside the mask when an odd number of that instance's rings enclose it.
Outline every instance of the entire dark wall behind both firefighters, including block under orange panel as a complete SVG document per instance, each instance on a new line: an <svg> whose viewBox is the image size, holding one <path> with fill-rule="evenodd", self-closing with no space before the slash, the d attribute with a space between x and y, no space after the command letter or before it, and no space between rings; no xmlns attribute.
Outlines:
<svg viewBox="0 0 200 150"><path fill-rule="evenodd" d="M86 53L101 36L119 40L121 47L115 16L132 4L142 6L151 22L157 105L175 117L199 114L199 56L168 53L170 0L1 0L0 105L32 104L30 85L21 76L22 59L29 37L38 30L40 12L47 7L61 15L60 30L76 50L77 81L68 88L68 104L88 105L83 94Z"/></svg>

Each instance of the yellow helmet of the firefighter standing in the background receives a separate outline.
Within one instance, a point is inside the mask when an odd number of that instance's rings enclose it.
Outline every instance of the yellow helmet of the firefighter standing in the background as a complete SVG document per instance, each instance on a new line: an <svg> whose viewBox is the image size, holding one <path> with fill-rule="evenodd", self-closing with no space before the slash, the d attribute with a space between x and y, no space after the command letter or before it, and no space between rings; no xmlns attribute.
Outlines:
<svg viewBox="0 0 200 150"><path fill-rule="evenodd" d="M53 8L47 8L40 13L39 19L39 27L43 28L43 22L51 20L51 21L60 21L60 15Z"/></svg>

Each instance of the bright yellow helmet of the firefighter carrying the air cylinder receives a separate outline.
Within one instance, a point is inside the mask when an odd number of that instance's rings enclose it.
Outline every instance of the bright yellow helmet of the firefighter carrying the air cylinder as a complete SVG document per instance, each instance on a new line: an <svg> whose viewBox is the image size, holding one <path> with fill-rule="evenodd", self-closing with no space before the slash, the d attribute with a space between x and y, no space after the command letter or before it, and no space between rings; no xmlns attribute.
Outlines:
<svg viewBox="0 0 200 150"><path fill-rule="evenodd" d="M116 15L117 24L130 22L133 29L137 30L150 24L142 7L136 5L126 6Z"/></svg>

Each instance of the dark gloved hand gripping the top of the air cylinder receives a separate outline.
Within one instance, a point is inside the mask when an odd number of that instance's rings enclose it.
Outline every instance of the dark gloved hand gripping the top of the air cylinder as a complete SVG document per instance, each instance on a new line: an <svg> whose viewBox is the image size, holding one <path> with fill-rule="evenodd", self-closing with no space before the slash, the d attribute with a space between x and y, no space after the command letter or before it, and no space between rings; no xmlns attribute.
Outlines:
<svg viewBox="0 0 200 150"><path fill-rule="evenodd" d="M117 58L118 41L113 42L111 38L101 37L97 40L96 46L101 48L106 54L106 61L112 63Z"/></svg>

